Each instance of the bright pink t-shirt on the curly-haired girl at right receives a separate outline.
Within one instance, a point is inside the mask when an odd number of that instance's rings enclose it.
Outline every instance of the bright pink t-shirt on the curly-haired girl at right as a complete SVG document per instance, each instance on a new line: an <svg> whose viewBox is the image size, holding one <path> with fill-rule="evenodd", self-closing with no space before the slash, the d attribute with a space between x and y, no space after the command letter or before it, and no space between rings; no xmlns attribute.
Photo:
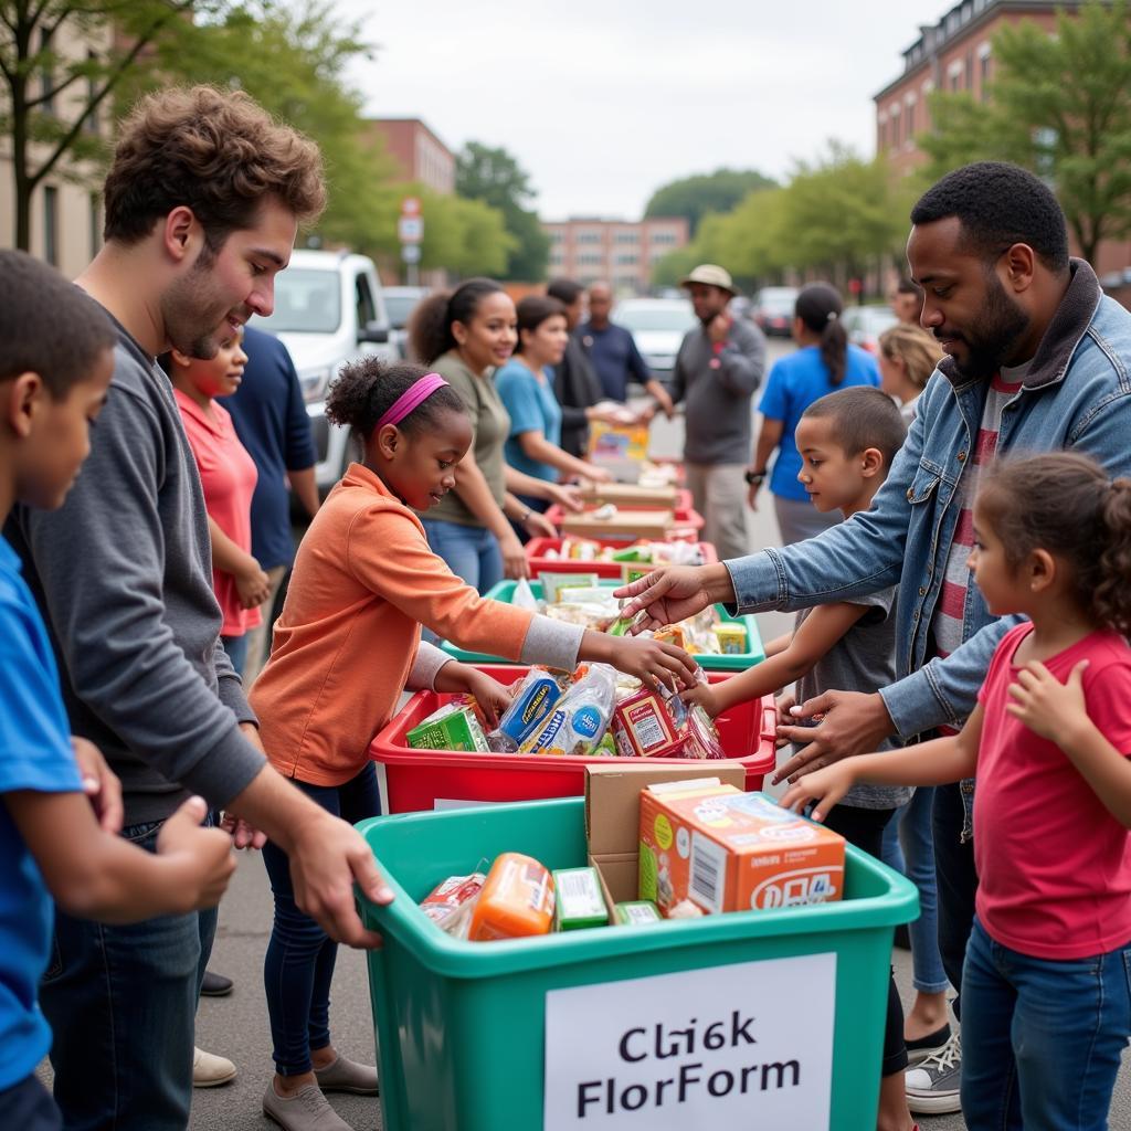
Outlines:
<svg viewBox="0 0 1131 1131"><path fill-rule="evenodd" d="M978 701L985 711L974 793L977 913L992 939L1033 958L1074 959L1131 942L1131 837L1068 756L1005 713L1028 622L1002 638ZM1045 661L1083 673L1088 717L1131 754L1131 648L1100 630Z"/></svg>

